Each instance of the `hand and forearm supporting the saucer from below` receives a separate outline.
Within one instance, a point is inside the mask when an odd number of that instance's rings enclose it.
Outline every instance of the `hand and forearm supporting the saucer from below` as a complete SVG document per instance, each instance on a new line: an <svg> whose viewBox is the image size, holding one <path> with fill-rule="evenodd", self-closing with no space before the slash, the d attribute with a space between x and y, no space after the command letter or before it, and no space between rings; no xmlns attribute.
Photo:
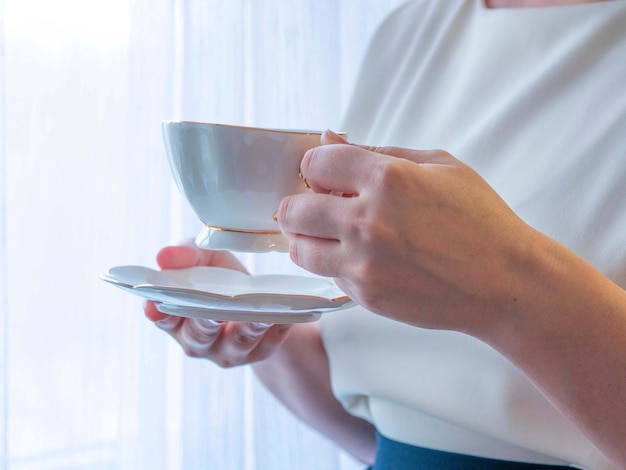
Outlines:
<svg viewBox="0 0 626 470"><path fill-rule="evenodd" d="M246 272L231 253L202 250L193 241L163 248L157 263L162 269L219 266ZM295 327L217 323L166 315L153 302L146 303L145 312L188 356L209 359L222 367L256 363L256 376L287 409L357 459L373 462L374 428L348 414L332 394L328 357L317 323ZM263 361L269 356L270 360Z"/></svg>

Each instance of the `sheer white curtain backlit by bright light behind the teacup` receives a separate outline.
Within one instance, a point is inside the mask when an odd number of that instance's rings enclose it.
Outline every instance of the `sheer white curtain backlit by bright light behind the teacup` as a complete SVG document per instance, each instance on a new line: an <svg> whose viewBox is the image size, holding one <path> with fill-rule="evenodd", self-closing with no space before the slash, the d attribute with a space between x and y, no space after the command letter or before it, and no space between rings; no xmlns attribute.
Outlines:
<svg viewBox="0 0 626 470"><path fill-rule="evenodd" d="M362 467L98 274L199 229L162 119L337 129L399 3L0 0L1 470Z"/></svg>

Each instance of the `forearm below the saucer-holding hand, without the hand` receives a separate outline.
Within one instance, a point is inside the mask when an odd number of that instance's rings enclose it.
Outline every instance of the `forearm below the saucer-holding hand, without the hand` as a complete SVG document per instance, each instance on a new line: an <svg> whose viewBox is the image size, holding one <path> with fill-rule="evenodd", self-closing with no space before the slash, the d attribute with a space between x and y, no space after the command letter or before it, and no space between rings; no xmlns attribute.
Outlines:
<svg viewBox="0 0 626 470"><path fill-rule="evenodd" d="M373 462L374 428L347 413L332 394L319 325L295 325L280 349L253 368L261 382L297 417L355 458Z"/></svg>

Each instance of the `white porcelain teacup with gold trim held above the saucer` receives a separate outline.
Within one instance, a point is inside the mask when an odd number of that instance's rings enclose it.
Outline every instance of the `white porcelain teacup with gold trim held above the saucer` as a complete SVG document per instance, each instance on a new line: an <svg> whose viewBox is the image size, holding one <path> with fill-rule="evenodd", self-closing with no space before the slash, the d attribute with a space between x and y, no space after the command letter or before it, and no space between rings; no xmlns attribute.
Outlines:
<svg viewBox="0 0 626 470"><path fill-rule="evenodd" d="M163 139L178 189L205 224L200 248L287 251L274 219L283 197L308 191L300 161L321 131L163 121Z"/></svg>

